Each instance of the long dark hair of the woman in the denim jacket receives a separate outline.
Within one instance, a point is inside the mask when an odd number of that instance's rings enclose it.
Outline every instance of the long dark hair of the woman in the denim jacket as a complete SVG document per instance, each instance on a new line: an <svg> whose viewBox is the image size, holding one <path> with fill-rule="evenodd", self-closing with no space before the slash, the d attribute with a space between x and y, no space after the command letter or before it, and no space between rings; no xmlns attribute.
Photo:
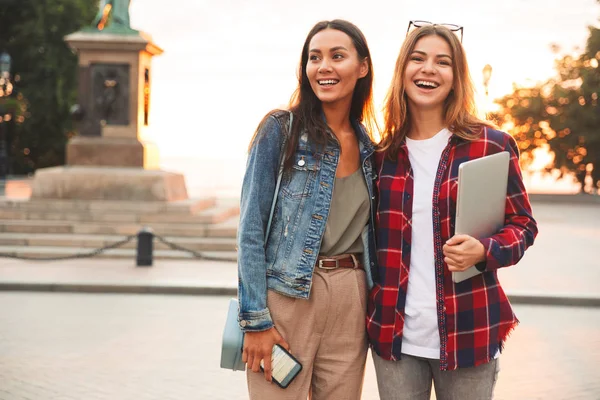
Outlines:
<svg viewBox="0 0 600 400"><path fill-rule="evenodd" d="M310 30L304 41L304 46L302 46L300 65L298 67L298 87L289 103L289 109L294 114L294 121L291 135L288 138L285 149L286 168L293 162L294 153L296 152L301 132L306 131L309 140L322 146L325 146L330 137L327 132L327 124L321 115L321 101L313 92L308 80L308 75L306 74L310 41L317 33L325 29L335 29L348 35L356 48L359 59L361 61L367 61L369 71L365 77L360 78L356 82L356 86L354 87L354 94L352 95L352 103L350 105L350 119L362 122L367 127L369 135L372 134L376 125L375 108L373 106L373 63L371 61L371 52L369 51L365 36L356 25L342 19L318 22ZM264 122L276 111L277 110L267 114L260 123L250 142L250 147L254 144L257 134Z"/></svg>

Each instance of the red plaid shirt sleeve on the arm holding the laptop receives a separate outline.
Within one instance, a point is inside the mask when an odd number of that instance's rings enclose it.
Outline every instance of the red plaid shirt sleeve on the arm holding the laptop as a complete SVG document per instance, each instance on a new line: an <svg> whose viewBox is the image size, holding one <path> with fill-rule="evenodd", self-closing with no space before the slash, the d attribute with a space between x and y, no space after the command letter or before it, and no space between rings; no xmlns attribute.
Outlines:
<svg viewBox="0 0 600 400"><path fill-rule="evenodd" d="M516 264L538 233L519 167L517 143L508 134L504 137L504 150L510 153L504 227L497 234L480 240L486 249L486 261L477 264L480 271Z"/></svg>

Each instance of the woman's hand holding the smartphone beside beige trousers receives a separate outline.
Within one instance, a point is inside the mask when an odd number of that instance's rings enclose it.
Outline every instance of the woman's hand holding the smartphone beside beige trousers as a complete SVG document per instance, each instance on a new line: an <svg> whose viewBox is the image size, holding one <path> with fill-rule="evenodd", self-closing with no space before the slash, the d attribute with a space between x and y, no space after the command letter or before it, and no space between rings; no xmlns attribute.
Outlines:
<svg viewBox="0 0 600 400"><path fill-rule="evenodd" d="M290 350L283 337L277 329L271 328L262 332L244 333L244 353L242 361L247 363L249 369L254 372L260 371L260 361L264 360L265 379L271 382L271 354L273 346L279 344L286 350Z"/></svg>

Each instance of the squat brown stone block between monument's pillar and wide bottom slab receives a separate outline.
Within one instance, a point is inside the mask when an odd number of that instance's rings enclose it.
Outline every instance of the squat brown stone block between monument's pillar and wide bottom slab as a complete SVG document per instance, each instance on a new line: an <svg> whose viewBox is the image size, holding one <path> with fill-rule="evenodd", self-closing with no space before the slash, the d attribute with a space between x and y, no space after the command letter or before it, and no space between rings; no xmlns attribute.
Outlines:
<svg viewBox="0 0 600 400"><path fill-rule="evenodd" d="M76 136L67 143L66 164L158 169L158 148L138 139Z"/></svg>

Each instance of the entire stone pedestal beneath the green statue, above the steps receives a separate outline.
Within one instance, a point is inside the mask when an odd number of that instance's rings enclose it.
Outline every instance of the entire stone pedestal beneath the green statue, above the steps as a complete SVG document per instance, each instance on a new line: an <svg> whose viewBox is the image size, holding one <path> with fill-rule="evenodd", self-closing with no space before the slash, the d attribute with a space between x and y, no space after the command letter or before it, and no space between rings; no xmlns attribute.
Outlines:
<svg viewBox="0 0 600 400"><path fill-rule="evenodd" d="M34 199L178 201L183 175L157 170L158 149L146 140L151 59L162 53L139 31L83 30L65 37L79 57L78 135L66 166L36 171Z"/></svg>

